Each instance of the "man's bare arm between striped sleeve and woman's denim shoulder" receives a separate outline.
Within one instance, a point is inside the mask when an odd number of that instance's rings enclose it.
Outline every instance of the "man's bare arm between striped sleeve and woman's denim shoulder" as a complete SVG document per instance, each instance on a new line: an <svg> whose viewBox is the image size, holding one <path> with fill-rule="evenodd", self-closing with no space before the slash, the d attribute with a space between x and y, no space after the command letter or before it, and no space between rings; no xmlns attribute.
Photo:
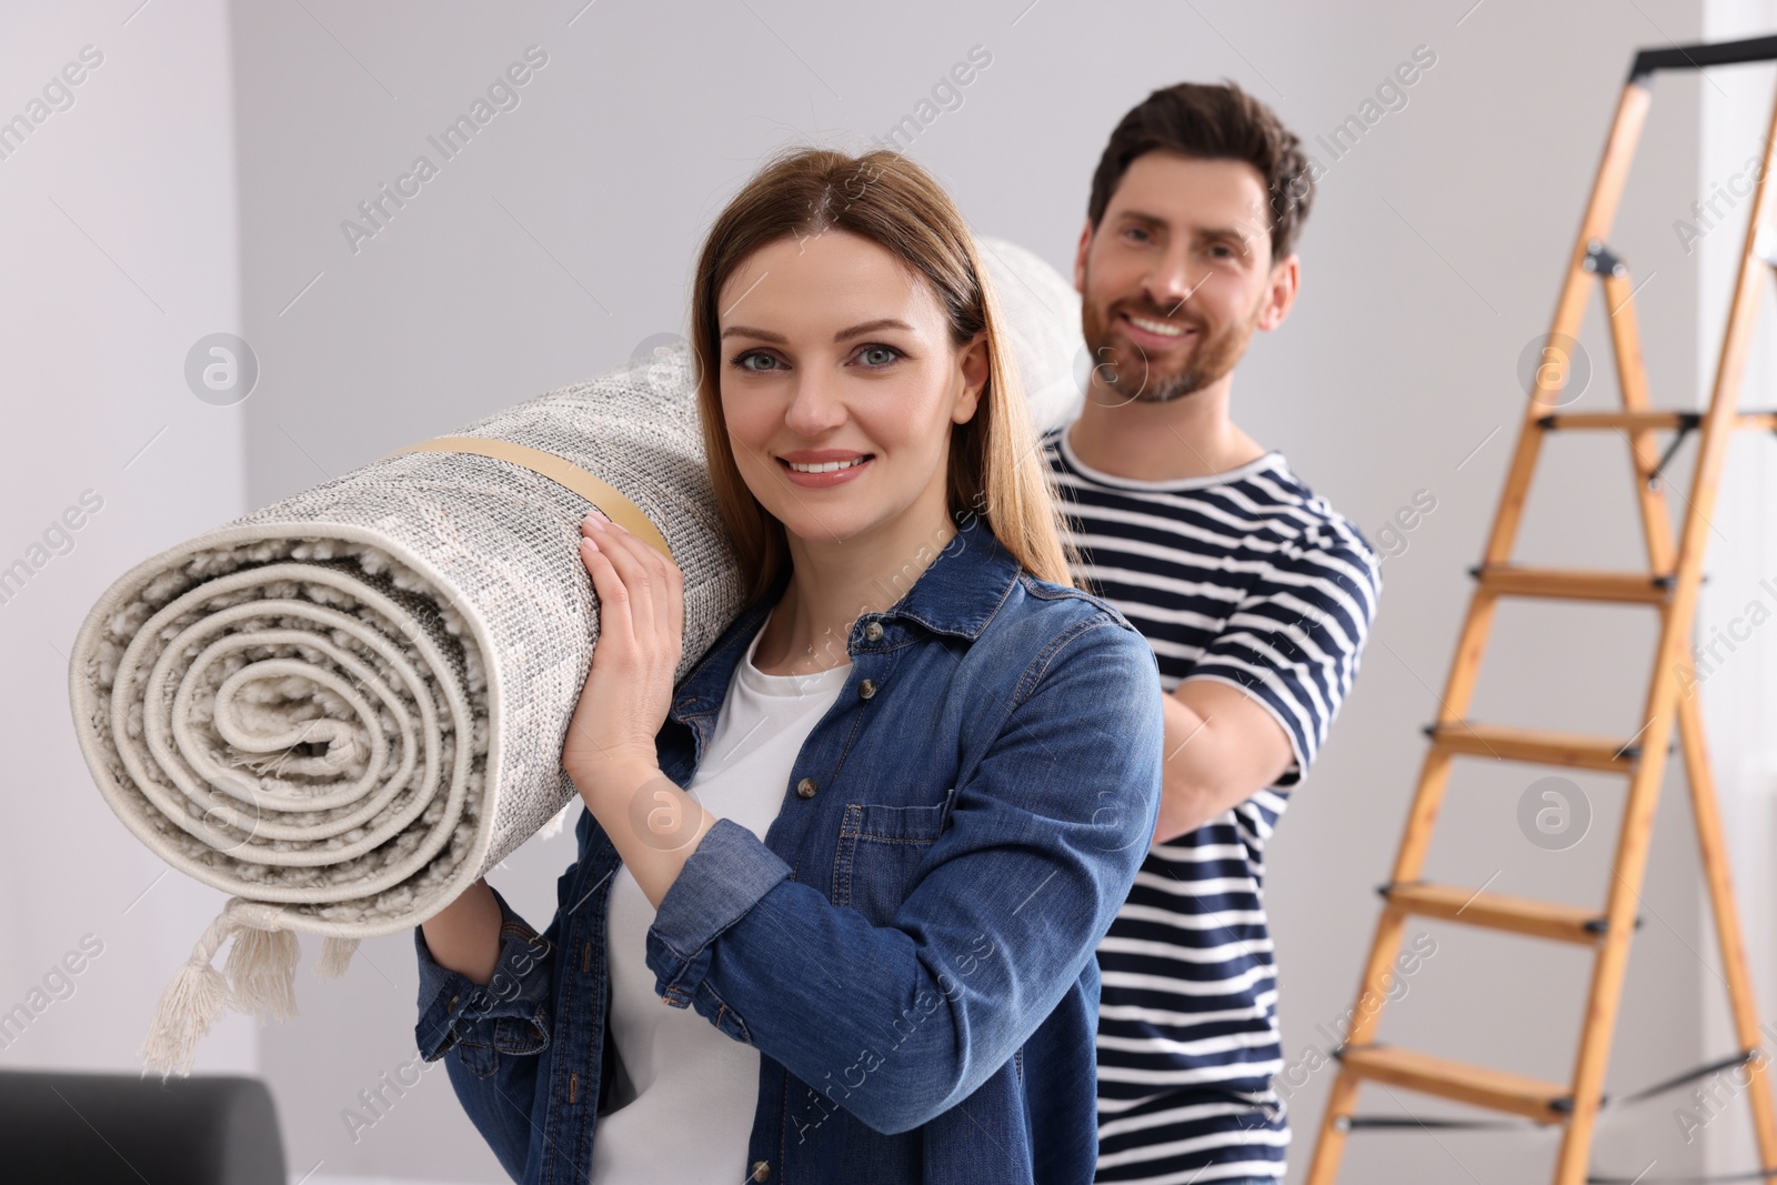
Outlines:
<svg viewBox="0 0 1777 1185"><path fill-rule="evenodd" d="M1290 737L1258 700L1214 679L1185 679L1164 696L1166 766L1153 842L1239 807L1295 760Z"/></svg>

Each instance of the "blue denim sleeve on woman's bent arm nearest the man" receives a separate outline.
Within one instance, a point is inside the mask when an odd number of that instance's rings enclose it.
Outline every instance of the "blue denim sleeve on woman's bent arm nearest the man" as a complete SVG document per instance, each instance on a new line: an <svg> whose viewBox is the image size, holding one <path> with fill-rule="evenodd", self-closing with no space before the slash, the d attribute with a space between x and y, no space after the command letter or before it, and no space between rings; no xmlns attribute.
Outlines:
<svg viewBox="0 0 1777 1185"><path fill-rule="evenodd" d="M945 707L972 750L949 824L890 924L835 906L718 821L649 933L670 1004L883 1133L967 1100L1036 1032L1128 897L1159 817L1159 668L1114 611L1072 624L1016 691L972 691Z"/></svg>

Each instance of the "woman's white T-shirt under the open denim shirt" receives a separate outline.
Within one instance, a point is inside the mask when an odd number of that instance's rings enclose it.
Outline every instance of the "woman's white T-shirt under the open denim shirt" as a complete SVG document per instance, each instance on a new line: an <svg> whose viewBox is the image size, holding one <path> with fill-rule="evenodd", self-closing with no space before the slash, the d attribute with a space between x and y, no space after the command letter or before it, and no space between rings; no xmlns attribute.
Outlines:
<svg viewBox="0 0 1777 1185"><path fill-rule="evenodd" d="M753 634L688 792L709 814L764 839L784 805L801 743L839 698L851 664L812 675L766 675L753 666L757 647ZM592 1181L732 1185L746 1176L759 1050L654 993L654 972L643 958L652 924L654 906L629 869L618 865L606 931L608 1039L617 1041L617 1073L611 1110L599 1116L594 1132Z"/></svg>

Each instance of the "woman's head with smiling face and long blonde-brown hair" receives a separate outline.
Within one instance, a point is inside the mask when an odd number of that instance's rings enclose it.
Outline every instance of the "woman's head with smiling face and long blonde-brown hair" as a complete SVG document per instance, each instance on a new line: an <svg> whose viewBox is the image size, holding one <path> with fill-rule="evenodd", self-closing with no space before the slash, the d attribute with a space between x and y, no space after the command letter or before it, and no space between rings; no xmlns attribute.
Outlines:
<svg viewBox="0 0 1777 1185"><path fill-rule="evenodd" d="M999 512L995 533L1015 540L1025 567L1072 583L999 298L972 236L906 158L832 156L844 163L801 153L761 172L725 211L732 224L718 219L698 261L705 295L691 318L704 441L752 593L778 574L785 531L837 542L896 522L915 501L929 519L986 499ZM867 171L873 183L835 190L826 169ZM977 416L990 375L1000 398ZM825 451L796 448L814 437ZM857 478L794 480L794 464L816 462L864 464ZM858 497L789 494L871 480L873 494Z"/></svg>

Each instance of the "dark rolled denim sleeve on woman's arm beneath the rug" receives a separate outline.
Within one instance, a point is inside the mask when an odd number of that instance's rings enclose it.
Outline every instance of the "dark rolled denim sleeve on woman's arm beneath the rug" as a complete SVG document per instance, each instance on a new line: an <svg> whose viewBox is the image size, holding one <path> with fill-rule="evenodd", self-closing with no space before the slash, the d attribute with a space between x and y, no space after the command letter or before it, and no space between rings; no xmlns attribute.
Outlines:
<svg viewBox="0 0 1777 1185"><path fill-rule="evenodd" d="M426 1061L451 1048L478 1078L494 1073L498 1054L531 1055L549 1045L551 934L538 934L498 888L499 958L485 984L439 966L425 933L414 927L419 958L419 1023L414 1041ZM551 924L551 931L554 924Z"/></svg>

